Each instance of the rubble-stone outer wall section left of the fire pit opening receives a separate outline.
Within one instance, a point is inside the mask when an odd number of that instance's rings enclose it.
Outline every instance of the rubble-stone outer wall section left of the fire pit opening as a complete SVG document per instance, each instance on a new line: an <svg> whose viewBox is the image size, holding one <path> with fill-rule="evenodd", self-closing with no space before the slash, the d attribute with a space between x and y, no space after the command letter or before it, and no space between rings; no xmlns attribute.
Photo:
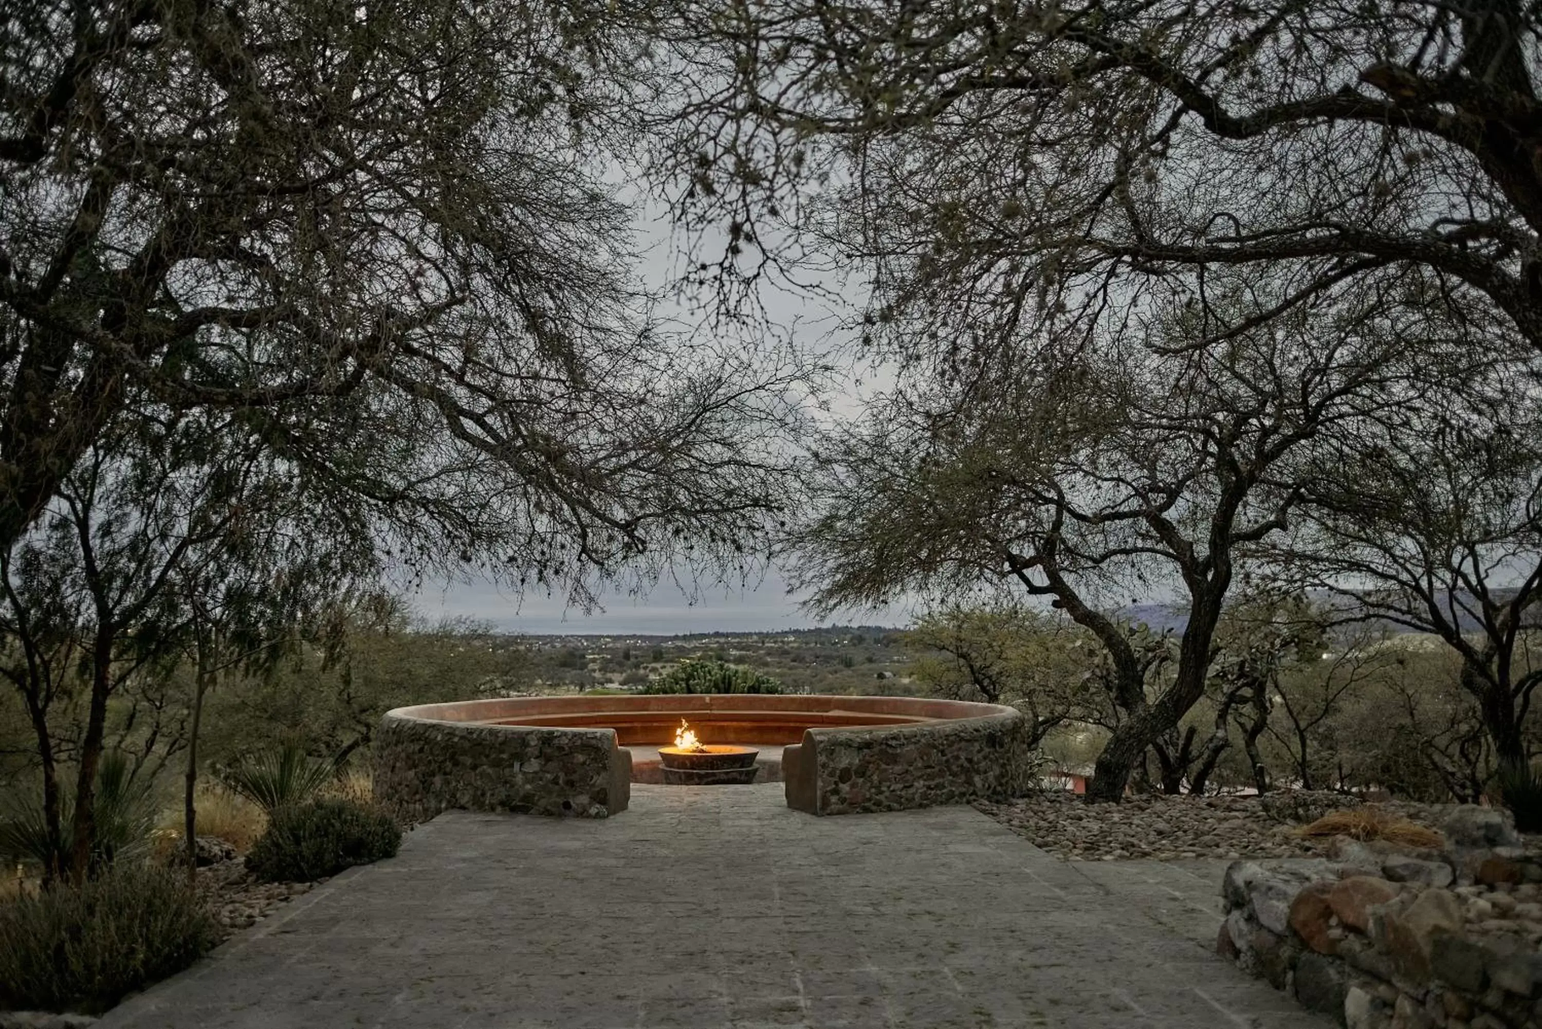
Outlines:
<svg viewBox="0 0 1542 1029"><path fill-rule="evenodd" d="M433 722L387 713L375 801L404 821L446 808L606 818L626 810L631 761L611 730Z"/></svg>

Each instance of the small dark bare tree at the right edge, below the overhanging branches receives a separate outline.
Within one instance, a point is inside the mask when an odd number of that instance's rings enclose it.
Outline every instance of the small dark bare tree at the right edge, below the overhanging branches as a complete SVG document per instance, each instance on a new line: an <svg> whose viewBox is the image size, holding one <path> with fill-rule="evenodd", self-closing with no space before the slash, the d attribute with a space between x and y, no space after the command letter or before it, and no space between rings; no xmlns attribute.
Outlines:
<svg viewBox="0 0 1542 1029"><path fill-rule="evenodd" d="M1431 633L1460 657L1500 762L1528 757L1542 685L1542 424L1531 367L1439 396L1417 418L1326 434L1311 506L1275 557L1343 597L1348 617Z"/></svg>

